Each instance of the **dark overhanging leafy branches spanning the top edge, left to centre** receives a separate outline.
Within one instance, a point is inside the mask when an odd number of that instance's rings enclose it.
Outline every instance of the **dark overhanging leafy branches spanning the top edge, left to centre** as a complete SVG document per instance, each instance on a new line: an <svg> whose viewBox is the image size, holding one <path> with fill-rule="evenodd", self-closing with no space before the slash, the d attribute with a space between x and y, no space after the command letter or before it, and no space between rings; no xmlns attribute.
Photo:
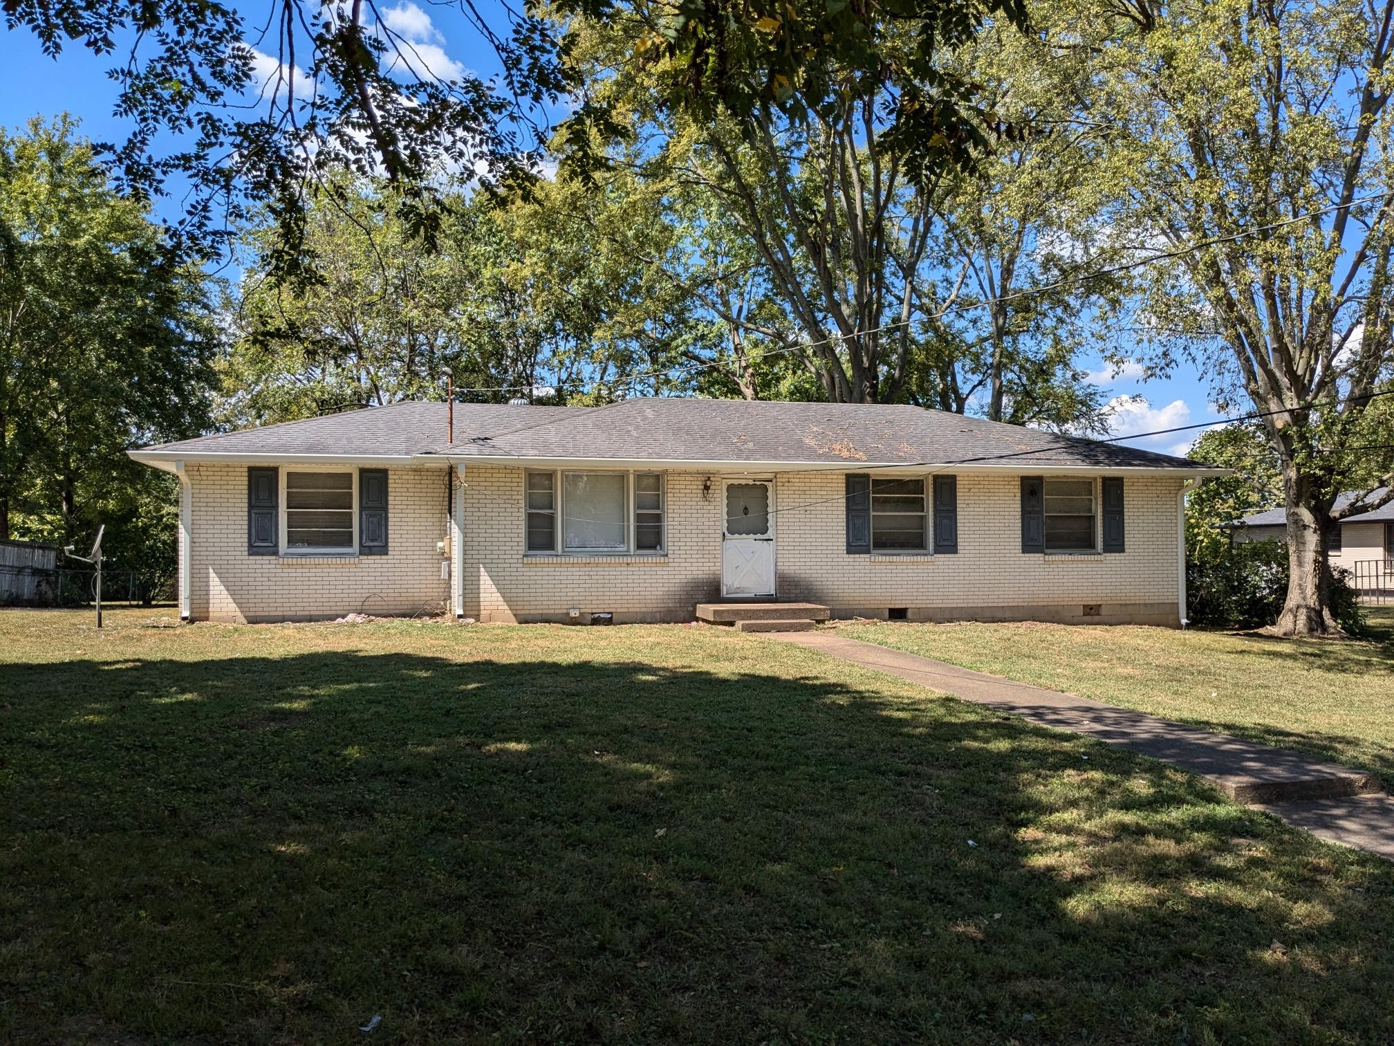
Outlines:
<svg viewBox="0 0 1394 1046"><path fill-rule="evenodd" d="M71 46L112 56L113 107L132 131L103 149L124 188L153 195L170 177L190 181L178 232L201 250L269 205L283 250L266 264L280 275L305 261L305 205L326 173L386 177L429 240L446 205L439 174L474 167L489 183L526 183L563 98L573 109L560 139L569 160L583 173L604 166L594 131L612 130L616 116L577 79L573 42L558 35L552 10L641 24L665 98L701 119L744 119L757 106L797 116L838 96L846 77L878 79L905 155L921 170L962 163L981 139L973 85L937 70L938 50L972 36L988 11L1025 20L1019 0L439 6L457 10L471 50L496 75L431 68L403 31L403 13L427 17L408 3L265 0L255 15L226 0L3 4L10 31L33 33L54 57ZM906 42L889 50L892 38Z"/></svg>

